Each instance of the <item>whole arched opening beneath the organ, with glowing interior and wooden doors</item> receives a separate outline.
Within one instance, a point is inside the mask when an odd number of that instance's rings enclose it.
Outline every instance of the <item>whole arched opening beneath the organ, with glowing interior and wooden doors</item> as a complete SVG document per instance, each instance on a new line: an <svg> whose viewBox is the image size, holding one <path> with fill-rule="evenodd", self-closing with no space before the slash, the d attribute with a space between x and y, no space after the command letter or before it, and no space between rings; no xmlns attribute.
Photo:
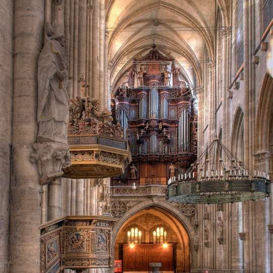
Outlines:
<svg viewBox="0 0 273 273"><path fill-rule="evenodd" d="M161 204L162 203L162 204ZM188 272L193 260L194 228L166 202L142 202L128 210L113 229L113 259L123 272L147 272L161 262L163 272Z"/></svg>

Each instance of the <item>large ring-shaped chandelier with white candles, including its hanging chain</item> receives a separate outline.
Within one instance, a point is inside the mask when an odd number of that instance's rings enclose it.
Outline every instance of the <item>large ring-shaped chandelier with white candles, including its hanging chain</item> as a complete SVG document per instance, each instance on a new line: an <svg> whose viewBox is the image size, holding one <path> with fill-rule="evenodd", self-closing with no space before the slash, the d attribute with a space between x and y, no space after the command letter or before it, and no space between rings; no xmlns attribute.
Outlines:
<svg viewBox="0 0 273 273"><path fill-rule="evenodd" d="M166 199L169 202L221 204L254 201L268 197L270 194L268 174L261 171L253 173L248 170L244 162L232 154L217 138L216 37L215 31L214 140L185 174L169 179L166 191Z"/></svg>

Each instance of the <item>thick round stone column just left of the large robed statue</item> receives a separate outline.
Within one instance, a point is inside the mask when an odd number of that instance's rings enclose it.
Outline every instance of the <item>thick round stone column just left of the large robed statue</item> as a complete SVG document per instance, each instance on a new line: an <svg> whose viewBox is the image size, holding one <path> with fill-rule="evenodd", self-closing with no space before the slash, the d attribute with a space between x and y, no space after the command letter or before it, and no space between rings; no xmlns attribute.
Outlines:
<svg viewBox="0 0 273 273"><path fill-rule="evenodd" d="M43 38L43 0L14 3L13 162L10 213L10 273L40 270L40 191L30 163L37 137L37 61Z"/></svg>

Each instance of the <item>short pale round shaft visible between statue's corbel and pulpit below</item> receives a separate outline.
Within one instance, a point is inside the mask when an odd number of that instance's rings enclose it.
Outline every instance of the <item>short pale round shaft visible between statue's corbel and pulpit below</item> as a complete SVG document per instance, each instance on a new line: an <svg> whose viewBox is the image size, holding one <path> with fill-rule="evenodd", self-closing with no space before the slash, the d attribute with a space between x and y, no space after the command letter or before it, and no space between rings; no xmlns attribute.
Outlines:
<svg viewBox="0 0 273 273"><path fill-rule="evenodd" d="M49 185L48 221L62 216L62 178Z"/></svg>

